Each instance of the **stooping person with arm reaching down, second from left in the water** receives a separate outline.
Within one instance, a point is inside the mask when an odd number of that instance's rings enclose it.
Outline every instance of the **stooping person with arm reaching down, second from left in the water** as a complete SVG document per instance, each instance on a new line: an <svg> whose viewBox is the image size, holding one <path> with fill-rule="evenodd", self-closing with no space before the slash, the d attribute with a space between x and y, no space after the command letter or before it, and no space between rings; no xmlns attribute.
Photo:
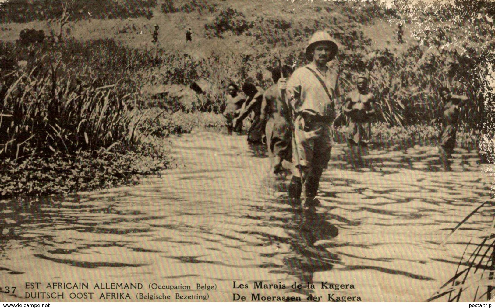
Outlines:
<svg viewBox="0 0 495 308"><path fill-rule="evenodd" d="M251 127L247 132L247 142L261 144L263 143L263 134L265 132L265 122L260 119L263 89L256 87L251 83L245 83L243 85L243 92L247 96L246 104L241 110L239 117L234 120L234 126L236 126L237 122L242 122L251 112L253 112L254 118Z"/></svg>

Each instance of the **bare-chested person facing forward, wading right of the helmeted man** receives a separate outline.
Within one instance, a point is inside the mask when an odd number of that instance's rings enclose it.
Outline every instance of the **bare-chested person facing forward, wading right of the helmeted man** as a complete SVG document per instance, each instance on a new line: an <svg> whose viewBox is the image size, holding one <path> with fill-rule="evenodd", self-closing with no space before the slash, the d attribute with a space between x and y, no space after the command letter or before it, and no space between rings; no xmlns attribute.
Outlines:
<svg viewBox="0 0 495 308"><path fill-rule="evenodd" d="M375 115L375 96L368 90L368 79L360 76L357 88L346 95L344 113L349 117L348 146L366 147L371 142L371 117Z"/></svg>

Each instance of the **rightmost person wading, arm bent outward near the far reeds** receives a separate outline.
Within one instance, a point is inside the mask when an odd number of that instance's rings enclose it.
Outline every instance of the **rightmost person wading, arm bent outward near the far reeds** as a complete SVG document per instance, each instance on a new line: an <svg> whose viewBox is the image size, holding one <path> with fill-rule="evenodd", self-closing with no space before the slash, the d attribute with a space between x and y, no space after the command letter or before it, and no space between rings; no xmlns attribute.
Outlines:
<svg viewBox="0 0 495 308"><path fill-rule="evenodd" d="M444 159L448 159L455 147L457 132L457 120L461 105L467 101L467 96L454 95L449 88L440 88L440 96L444 102L442 113L442 134L440 135L440 153Z"/></svg>

